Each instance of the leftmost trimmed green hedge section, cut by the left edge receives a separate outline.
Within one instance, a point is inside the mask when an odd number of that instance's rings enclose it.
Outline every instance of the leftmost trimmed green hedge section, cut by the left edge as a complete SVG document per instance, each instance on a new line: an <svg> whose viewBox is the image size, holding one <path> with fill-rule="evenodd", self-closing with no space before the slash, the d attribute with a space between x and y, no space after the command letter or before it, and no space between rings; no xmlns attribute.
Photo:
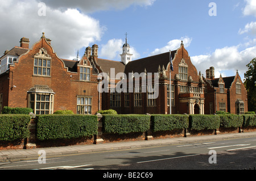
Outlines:
<svg viewBox="0 0 256 181"><path fill-rule="evenodd" d="M30 135L29 115L0 115L0 141L16 141Z"/></svg>

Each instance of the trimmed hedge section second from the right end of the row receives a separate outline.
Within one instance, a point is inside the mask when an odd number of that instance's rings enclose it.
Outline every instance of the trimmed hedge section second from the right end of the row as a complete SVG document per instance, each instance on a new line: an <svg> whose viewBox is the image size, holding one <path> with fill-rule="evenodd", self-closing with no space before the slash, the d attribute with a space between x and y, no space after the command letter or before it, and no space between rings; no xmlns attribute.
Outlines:
<svg viewBox="0 0 256 181"><path fill-rule="evenodd" d="M243 125L243 116L242 115L220 115L220 127L224 128L238 128Z"/></svg>

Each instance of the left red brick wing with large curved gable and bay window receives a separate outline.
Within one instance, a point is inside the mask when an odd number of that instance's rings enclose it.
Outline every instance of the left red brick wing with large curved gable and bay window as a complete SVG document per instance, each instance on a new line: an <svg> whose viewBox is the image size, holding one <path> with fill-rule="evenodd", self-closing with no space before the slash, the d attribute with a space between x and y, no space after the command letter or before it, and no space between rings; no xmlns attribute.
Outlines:
<svg viewBox="0 0 256 181"><path fill-rule="evenodd" d="M20 47L1 57L1 61L10 59L9 69L2 69L0 75L1 110L9 106L30 107L36 114L57 110L96 113L97 73L86 55L80 61L61 59L44 35L31 49L28 43L22 38Z"/></svg>

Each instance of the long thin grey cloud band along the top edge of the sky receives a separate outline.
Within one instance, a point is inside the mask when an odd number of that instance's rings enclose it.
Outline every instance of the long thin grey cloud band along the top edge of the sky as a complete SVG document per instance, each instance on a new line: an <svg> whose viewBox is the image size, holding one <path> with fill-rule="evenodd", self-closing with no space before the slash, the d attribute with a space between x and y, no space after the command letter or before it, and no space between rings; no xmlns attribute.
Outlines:
<svg viewBox="0 0 256 181"><path fill-rule="evenodd" d="M101 10L117 9L122 10L131 5L151 6L155 0L44 0L47 6L53 9L67 10L68 8L79 9L82 12L96 12Z"/></svg>

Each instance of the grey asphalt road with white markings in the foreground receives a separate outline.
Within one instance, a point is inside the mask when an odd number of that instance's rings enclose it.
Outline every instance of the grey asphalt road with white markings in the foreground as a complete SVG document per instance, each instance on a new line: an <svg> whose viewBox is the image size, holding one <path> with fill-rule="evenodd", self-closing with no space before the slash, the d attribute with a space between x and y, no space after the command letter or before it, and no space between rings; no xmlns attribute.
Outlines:
<svg viewBox="0 0 256 181"><path fill-rule="evenodd" d="M40 161L0 163L0 170L104 170L108 174L106 170L254 170L255 167L256 137L59 157L46 155Z"/></svg>

